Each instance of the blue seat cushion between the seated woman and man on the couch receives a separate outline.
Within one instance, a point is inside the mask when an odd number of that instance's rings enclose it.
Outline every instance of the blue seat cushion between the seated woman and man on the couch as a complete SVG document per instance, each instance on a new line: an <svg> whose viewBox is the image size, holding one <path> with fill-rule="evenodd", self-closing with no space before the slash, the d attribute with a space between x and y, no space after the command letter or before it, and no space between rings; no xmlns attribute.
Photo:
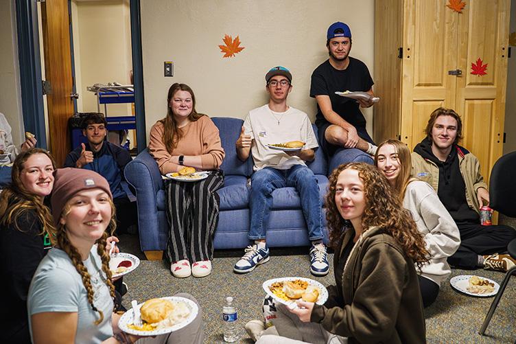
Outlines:
<svg viewBox="0 0 516 344"><path fill-rule="evenodd" d="M224 187L217 193L220 196L220 211L249 207L249 189L245 176L225 176Z"/></svg>

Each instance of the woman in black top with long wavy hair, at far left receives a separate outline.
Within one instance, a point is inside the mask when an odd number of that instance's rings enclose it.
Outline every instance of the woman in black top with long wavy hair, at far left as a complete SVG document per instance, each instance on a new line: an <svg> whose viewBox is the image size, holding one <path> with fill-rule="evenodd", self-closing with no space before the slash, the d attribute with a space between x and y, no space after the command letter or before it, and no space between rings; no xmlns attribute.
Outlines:
<svg viewBox="0 0 516 344"><path fill-rule="evenodd" d="M55 231L44 204L55 168L46 150L22 151L12 165L12 183L0 194L0 276L5 281L0 322L5 343L30 343L27 293Z"/></svg>

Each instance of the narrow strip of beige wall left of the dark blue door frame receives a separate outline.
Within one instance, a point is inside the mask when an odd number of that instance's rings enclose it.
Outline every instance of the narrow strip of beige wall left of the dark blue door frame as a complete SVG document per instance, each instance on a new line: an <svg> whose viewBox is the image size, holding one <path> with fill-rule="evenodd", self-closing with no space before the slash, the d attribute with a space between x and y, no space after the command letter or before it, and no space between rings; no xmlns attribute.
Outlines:
<svg viewBox="0 0 516 344"><path fill-rule="evenodd" d="M14 144L21 144L24 130L14 0L0 0L0 8L0 112L12 127Z"/></svg>

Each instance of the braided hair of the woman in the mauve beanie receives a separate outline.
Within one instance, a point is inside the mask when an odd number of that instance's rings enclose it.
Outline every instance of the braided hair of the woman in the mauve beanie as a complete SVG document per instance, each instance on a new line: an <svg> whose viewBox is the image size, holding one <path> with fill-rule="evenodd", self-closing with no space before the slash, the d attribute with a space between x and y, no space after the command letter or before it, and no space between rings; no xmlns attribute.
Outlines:
<svg viewBox="0 0 516 344"><path fill-rule="evenodd" d="M111 218L109 221L109 225L106 228L106 231L102 233L102 237L97 239L95 244L97 244L97 254L100 256L100 259L102 260L102 271L106 274L106 285L109 288L109 293L111 295L111 298L113 299L113 303L116 303L115 298L115 286L113 285L112 273L109 269L109 255L106 253L106 239L110 234L112 234L115 229L117 228L117 222L115 220L115 205L113 204L112 200L109 200L110 206L111 206ZM66 216L70 213L71 206L69 203L65 205L65 207L62 210L61 217L66 218ZM65 251L67 255L70 257L71 262L73 266L75 266L75 270L79 273L82 279L82 285L84 288L86 288L86 292L88 293L88 302L90 303L91 309L94 312L99 313L99 319L94 321L95 325L99 325L99 323L102 323L104 320L104 312L102 310L99 310L95 305L93 304L93 286L91 286L91 275L88 273L88 269L86 269L86 266L82 263L82 258L80 256L79 251L73 246L67 236L67 228L66 225L59 224L56 234L56 240L57 244L60 249ZM113 311L116 310L116 305L113 307Z"/></svg>

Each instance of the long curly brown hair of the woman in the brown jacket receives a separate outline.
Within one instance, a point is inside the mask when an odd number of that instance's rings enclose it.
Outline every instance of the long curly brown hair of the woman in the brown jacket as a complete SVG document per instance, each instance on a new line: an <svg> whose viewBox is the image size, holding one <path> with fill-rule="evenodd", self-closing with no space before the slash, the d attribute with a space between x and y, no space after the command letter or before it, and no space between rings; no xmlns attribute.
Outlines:
<svg viewBox="0 0 516 344"><path fill-rule="evenodd" d="M388 233L403 247L408 257L421 267L428 261L429 255L425 249L425 240L417 230L416 222L410 211L403 208L401 200L386 177L375 166L367 163L347 163L333 170L329 176L329 191L326 194L326 219L329 229L329 244L335 248L344 232L352 228L349 221L344 220L337 208L336 184L340 173L348 168L358 171L358 176L364 184L365 207L362 214L364 232L370 227L377 226Z"/></svg>

